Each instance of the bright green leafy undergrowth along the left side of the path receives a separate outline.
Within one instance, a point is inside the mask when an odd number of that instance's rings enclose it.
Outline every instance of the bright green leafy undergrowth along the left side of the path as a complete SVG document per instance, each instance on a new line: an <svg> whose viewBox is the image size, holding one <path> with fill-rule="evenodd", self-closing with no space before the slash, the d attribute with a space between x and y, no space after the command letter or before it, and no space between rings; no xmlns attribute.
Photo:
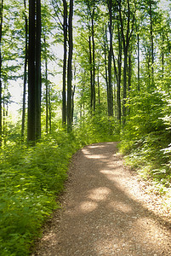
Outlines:
<svg viewBox="0 0 171 256"><path fill-rule="evenodd" d="M102 136L94 121L89 119L70 135L59 128L35 147L14 143L1 150L1 256L29 254L41 226L60 207L56 197L63 189L71 155L88 143L114 139L108 132Z"/></svg>

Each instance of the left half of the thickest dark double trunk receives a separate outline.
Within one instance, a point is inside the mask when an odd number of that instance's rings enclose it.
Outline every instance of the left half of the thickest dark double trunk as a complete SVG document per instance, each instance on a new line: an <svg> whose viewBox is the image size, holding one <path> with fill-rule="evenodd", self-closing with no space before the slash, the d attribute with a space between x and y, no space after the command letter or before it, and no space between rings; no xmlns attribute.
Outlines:
<svg viewBox="0 0 171 256"><path fill-rule="evenodd" d="M36 140L35 133L35 0L29 1L29 55L28 55L28 122L27 122L27 140L34 144Z"/></svg>

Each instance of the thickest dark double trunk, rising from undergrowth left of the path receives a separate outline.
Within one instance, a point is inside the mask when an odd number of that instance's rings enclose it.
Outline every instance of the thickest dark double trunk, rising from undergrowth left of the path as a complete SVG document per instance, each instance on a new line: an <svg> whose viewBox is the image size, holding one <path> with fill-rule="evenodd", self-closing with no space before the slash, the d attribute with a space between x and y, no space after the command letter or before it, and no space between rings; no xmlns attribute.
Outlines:
<svg viewBox="0 0 171 256"><path fill-rule="evenodd" d="M35 142L41 127L41 3L29 1L27 140Z"/></svg>

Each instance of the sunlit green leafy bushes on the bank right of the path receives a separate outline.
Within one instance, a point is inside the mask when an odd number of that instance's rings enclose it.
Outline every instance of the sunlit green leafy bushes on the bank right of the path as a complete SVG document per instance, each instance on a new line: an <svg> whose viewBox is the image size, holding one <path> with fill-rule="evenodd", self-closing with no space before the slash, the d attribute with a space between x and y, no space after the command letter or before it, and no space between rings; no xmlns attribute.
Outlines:
<svg viewBox="0 0 171 256"><path fill-rule="evenodd" d="M123 130L120 151L126 163L151 180L153 191L166 193L170 187L169 96L141 92L129 101L131 108Z"/></svg>

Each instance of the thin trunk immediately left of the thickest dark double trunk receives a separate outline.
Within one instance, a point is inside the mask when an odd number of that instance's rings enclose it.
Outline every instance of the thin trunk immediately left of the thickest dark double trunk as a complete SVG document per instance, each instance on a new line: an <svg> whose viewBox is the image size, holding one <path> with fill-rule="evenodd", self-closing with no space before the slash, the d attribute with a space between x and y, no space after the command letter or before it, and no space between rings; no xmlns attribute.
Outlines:
<svg viewBox="0 0 171 256"><path fill-rule="evenodd" d="M26 0L24 0L26 11ZM26 79L27 79L27 61L28 61L28 20L25 14L25 67L24 67L24 83L23 83L23 107L22 107L22 125L21 125L21 139L24 141L25 133L25 119L26 119Z"/></svg>

